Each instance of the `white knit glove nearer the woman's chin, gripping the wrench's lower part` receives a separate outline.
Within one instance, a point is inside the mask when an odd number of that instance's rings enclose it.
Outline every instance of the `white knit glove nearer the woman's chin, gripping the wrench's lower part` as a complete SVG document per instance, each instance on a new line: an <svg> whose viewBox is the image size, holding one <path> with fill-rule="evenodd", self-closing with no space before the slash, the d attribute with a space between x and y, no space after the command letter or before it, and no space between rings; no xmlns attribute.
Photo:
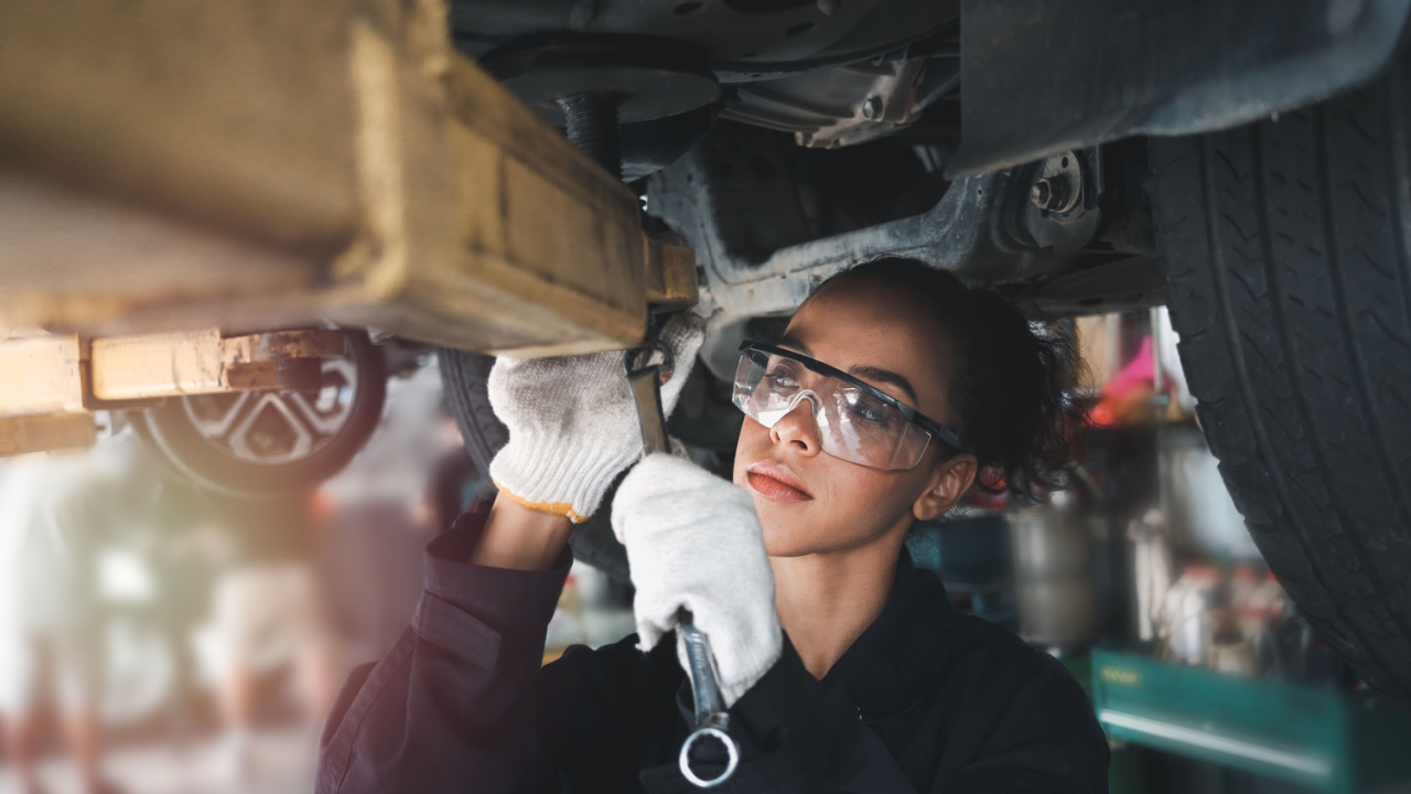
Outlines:
<svg viewBox="0 0 1411 794"><path fill-rule="evenodd" d="M648 455L618 486L612 531L626 545L642 650L676 627L680 608L691 610L715 653L725 705L734 705L783 653L753 500L689 461ZM680 639L676 653L689 672Z"/></svg>

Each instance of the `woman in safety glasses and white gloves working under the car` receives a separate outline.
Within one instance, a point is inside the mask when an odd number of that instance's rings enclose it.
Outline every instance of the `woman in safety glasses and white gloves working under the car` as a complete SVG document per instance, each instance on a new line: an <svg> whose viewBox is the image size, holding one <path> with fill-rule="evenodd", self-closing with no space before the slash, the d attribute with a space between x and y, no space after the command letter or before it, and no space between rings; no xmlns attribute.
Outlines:
<svg viewBox="0 0 1411 794"><path fill-rule="evenodd" d="M682 363L700 340L694 318L663 332ZM638 462L621 362L497 362L499 494L428 548L411 629L333 709L317 791L698 791L677 766L682 606L710 637L741 747L717 791L1108 790L1078 684L955 612L903 545L976 478L1019 494L1048 482L1070 348L944 271L864 264L783 339L742 350L732 483L670 455ZM612 527L638 634L540 667L573 521L628 468Z"/></svg>

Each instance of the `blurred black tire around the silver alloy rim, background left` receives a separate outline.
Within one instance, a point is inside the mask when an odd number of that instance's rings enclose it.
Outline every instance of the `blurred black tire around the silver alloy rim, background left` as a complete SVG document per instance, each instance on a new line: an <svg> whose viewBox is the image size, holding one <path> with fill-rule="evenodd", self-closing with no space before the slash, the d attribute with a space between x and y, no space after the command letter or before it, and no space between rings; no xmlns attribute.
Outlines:
<svg viewBox="0 0 1411 794"><path fill-rule="evenodd" d="M279 463L241 459L198 428L188 397L133 417L137 434L166 468L200 490L240 499L305 492L343 470L377 429L387 404L382 352L367 333L347 332L347 362L356 373L340 422L305 456ZM258 397L267 393L248 393Z"/></svg>

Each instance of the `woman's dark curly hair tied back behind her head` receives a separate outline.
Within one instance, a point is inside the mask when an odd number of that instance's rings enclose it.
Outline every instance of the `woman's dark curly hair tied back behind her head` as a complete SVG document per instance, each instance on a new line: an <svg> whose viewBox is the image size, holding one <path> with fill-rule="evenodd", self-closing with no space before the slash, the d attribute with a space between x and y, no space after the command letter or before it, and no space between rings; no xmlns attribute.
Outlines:
<svg viewBox="0 0 1411 794"><path fill-rule="evenodd" d="M975 455L975 486L1029 503L1062 487L1070 462L1067 390L1082 366L1072 342L1031 324L992 290L912 259L879 259L828 278L896 284L926 300L958 352L950 373L954 429Z"/></svg>

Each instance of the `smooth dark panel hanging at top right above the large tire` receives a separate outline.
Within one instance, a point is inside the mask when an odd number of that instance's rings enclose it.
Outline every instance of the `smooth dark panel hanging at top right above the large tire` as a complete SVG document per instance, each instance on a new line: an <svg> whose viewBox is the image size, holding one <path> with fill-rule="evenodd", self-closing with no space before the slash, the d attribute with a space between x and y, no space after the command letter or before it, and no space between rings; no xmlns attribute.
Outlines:
<svg viewBox="0 0 1411 794"><path fill-rule="evenodd" d="M969 177L1134 134L1233 127L1374 76L1411 0L962 0Z"/></svg>

